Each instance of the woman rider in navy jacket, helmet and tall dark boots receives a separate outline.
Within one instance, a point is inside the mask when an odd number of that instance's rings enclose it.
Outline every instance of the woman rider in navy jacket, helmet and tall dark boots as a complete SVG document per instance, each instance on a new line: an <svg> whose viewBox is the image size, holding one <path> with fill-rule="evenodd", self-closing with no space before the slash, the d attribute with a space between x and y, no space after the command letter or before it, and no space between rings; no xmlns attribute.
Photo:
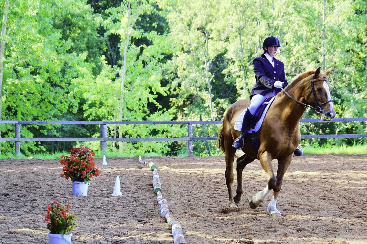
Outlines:
<svg viewBox="0 0 367 244"><path fill-rule="evenodd" d="M256 84L250 92L250 107L247 108L242 122L241 134L234 142L232 147L242 149L243 139L249 130L252 115L255 114L257 108L269 96L276 96L281 91L280 88L287 86L286 75L284 73L284 64L277 60L275 55L278 48L281 47L278 38L269 36L265 38L262 49L264 52L261 56L254 59L254 72ZM294 151L294 156L303 155L300 149Z"/></svg>

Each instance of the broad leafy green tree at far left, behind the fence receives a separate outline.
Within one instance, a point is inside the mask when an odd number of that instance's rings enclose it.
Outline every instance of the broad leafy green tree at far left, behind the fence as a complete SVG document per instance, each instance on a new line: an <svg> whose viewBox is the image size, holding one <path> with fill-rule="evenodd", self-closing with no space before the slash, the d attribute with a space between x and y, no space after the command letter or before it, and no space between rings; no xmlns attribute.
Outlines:
<svg viewBox="0 0 367 244"><path fill-rule="evenodd" d="M55 16L60 16L65 5L74 12L84 6L75 1L17 1L10 8L3 69L6 82L2 84L3 119L58 120L65 113L78 111L81 96L75 92L79 85L76 81L92 80L95 66L86 62L87 51L74 51L77 48L72 41L55 28L59 26L56 21L62 21ZM7 136L14 136L13 128L4 126L3 130ZM34 132L47 130L55 133L53 126L34 125L23 127L21 136L32 137ZM44 149L35 145L24 142L22 149L25 154ZM5 147L10 151L12 144L6 143Z"/></svg>

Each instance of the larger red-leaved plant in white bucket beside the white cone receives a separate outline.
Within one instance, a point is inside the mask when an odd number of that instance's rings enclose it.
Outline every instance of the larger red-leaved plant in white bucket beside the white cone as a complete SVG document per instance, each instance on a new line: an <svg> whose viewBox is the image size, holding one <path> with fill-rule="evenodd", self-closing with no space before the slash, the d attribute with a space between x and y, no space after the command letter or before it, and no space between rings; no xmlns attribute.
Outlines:
<svg viewBox="0 0 367 244"><path fill-rule="evenodd" d="M60 156L60 163L64 165L61 177L69 178L73 182L73 195L87 196L88 186L93 176L98 176L99 169L95 168L93 162L94 152L84 145L72 147L70 156Z"/></svg>

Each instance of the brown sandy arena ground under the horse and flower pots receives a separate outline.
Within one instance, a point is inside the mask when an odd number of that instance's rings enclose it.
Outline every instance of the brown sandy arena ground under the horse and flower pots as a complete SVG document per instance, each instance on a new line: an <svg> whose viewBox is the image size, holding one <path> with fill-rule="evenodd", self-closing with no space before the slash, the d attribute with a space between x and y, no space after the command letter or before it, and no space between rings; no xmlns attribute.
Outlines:
<svg viewBox="0 0 367 244"><path fill-rule="evenodd" d="M143 160L159 168L163 198L187 243L367 243L367 154L294 158L278 199L281 217L266 212L272 193L257 209L248 206L266 186L258 160L244 169L237 211L228 211L223 156ZM74 244L173 243L153 192L153 171L138 158L95 162L101 175L83 197L72 195L58 160L1 160L0 243L47 243L43 219L53 200L69 203L77 216ZM125 196L111 196L116 175ZM235 173L234 192L236 182Z"/></svg>

